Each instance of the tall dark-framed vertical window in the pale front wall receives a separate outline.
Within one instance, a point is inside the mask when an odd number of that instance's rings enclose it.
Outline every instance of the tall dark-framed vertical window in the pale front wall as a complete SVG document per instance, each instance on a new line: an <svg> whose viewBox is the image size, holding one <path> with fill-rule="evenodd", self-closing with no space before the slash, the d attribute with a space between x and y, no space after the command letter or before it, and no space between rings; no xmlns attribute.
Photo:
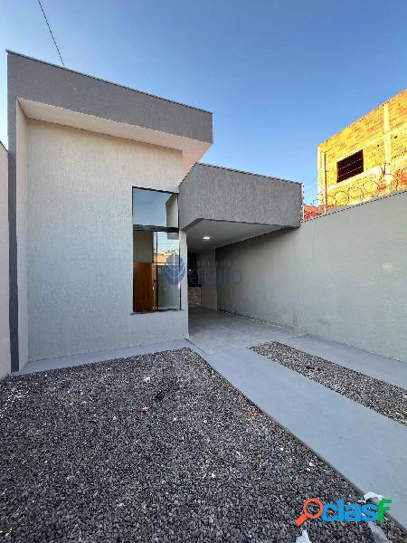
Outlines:
<svg viewBox="0 0 407 543"><path fill-rule="evenodd" d="M133 188L133 311L181 309L178 197Z"/></svg>

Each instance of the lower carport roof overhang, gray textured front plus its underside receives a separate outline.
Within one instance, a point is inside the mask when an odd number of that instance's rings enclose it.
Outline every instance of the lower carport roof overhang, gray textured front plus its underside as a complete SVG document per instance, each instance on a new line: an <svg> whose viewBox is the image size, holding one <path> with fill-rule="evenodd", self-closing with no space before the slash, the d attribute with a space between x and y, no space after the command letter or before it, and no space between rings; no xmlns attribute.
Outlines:
<svg viewBox="0 0 407 543"><path fill-rule="evenodd" d="M179 216L193 252L296 228L302 218L302 184L196 164L180 186Z"/></svg>

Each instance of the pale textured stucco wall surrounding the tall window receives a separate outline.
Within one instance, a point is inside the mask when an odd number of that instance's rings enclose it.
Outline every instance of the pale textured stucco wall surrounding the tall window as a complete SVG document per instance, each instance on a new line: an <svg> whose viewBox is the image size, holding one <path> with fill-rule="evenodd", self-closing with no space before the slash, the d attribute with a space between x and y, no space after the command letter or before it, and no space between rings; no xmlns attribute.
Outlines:
<svg viewBox="0 0 407 543"><path fill-rule="evenodd" d="M30 360L187 337L185 279L183 310L131 314L132 186L177 192L182 167L179 151L29 120Z"/></svg>

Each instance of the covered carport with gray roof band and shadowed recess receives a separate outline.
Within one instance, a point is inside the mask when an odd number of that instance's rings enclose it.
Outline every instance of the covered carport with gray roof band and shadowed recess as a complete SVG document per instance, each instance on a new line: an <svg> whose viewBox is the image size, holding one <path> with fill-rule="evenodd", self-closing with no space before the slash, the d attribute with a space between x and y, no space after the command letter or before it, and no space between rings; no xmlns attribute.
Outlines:
<svg viewBox="0 0 407 543"><path fill-rule="evenodd" d="M221 333L225 320L216 313L222 310L217 286L241 281L240 271L222 261L217 249L298 228L301 219L300 183L206 164L191 169L179 191L179 224L188 246L190 335Z"/></svg>

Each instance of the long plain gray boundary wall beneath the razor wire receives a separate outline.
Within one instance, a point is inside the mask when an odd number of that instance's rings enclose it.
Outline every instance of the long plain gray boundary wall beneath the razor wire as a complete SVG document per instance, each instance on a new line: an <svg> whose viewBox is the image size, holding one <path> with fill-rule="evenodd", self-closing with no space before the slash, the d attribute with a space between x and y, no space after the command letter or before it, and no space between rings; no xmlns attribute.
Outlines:
<svg viewBox="0 0 407 543"><path fill-rule="evenodd" d="M407 362L406 232L402 193L229 245L218 307Z"/></svg>

